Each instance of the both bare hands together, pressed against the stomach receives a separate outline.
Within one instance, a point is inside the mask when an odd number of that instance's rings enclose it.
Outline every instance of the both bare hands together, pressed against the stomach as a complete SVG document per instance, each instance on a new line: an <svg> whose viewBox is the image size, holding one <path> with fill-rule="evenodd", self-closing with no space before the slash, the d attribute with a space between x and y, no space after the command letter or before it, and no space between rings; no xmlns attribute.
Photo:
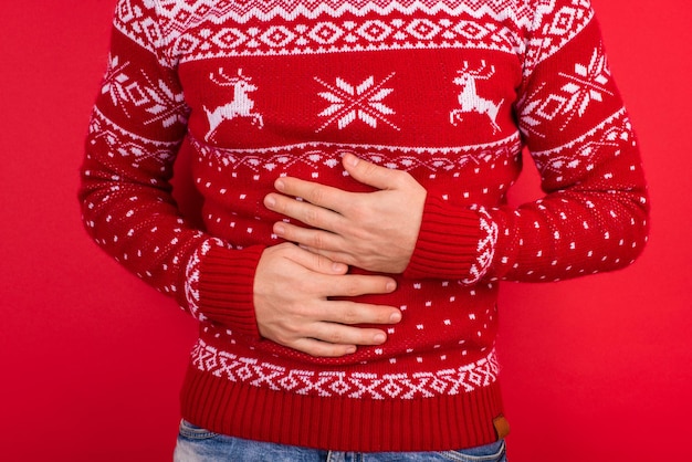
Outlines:
<svg viewBox="0 0 692 462"><path fill-rule="evenodd" d="M277 192L264 198L268 209L305 227L274 223L274 233L289 242L268 248L258 264L259 330L264 338L312 356L339 357L358 346L386 342L384 329L355 325L396 324L399 309L343 298L391 293L396 281L348 274L348 266L402 273L416 246L426 201L426 189L408 172L350 154L343 165L356 181L375 190L349 192L285 177L275 181Z"/></svg>

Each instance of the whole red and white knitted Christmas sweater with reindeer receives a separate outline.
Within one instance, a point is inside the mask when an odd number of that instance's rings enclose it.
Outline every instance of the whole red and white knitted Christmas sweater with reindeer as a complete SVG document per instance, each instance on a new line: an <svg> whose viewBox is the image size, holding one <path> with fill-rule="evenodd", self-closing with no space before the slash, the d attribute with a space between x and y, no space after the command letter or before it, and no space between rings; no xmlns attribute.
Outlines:
<svg viewBox="0 0 692 462"><path fill-rule="evenodd" d="M523 151L545 197L511 208ZM203 227L171 196L180 153ZM398 288L356 298L402 321L316 358L259 334L254 271L285 219L262 200L280 176L368 191L345 153L427 199ZM120 0L80 197L94 240L199 319L187 420L347 451L501 437L499 283L628 265L648 218L588 0Z"/></svg>

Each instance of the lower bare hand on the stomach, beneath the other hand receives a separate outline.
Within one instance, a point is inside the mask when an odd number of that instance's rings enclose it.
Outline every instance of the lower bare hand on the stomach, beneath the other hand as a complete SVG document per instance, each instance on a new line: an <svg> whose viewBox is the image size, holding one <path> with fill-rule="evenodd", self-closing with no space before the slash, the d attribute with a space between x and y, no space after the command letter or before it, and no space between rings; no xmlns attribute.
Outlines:
<svg viewBox="0 0 692 462"><path fill-rule="evenodd" d="M384 330L354 324L396 324L392 306L329 297L387 294L391 277L346 274L348 267L292 243L264 250L254 279L254 306L264 338L312 356L339 357L358 345L380 345Z"/></svg>

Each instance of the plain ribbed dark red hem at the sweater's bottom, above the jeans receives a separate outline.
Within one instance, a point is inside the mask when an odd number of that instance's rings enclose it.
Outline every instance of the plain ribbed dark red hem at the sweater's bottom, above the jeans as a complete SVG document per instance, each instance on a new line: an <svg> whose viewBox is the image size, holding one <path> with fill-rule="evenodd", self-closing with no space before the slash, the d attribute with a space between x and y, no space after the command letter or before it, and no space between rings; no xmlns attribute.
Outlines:
<svg viewBox="0 0 692 462"><path fill-rule="evenodd" d="M182 417L212 432L334 451L442 451L497 440L497 381L415 399L319 397L275 391L190 365Z"/></svg>

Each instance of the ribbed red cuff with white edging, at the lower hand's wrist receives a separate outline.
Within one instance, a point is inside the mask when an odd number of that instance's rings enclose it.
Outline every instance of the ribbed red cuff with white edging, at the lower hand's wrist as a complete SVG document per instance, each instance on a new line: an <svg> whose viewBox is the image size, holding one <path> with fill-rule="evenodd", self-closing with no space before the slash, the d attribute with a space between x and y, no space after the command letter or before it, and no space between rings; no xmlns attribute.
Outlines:
<svg viewBox="0 0 692 462"><path fill-rule="evenodd" d="M263 250L261 245L231 250L218 239L203 242L186 272L190 313L199 321L210 321L234 333L259 338L253 286Z"/></svg>

